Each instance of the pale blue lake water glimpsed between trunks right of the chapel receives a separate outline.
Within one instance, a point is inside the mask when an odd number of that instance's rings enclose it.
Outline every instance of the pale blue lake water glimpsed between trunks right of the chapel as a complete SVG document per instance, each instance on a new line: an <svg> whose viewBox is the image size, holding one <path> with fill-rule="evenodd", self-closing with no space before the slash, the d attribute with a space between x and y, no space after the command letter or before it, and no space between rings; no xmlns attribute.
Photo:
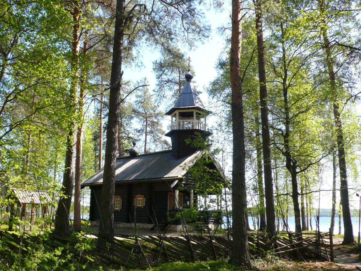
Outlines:
<svg viewBox="0 0 361 271"><path fill-rule="evenodd" d="M232 218L230 218L231 223L232 223ZM353 226L353 235L355 237L358 236L358 217L352 217L352 226ZM225 222L225 225L227 225L227 218L224 217L223 221ZM256 229L256 227L254 227L253 225L253 221L252 221L252 216L248 216L248 221L249 221L249 227L251 227L251 229ZM257 223L257 222L256 222ZM319 218L319 230L321 232L328 232L329 228L330 228L330 223L331 223L331 217L320 217ZM288 227L290 228L291 231L295 231L295 217L294 216L290 216L288 217ZM282 230L282 223L281 223L281 230ZM312 229L316 230L316 220L313 218L312 219ZM343 234L343 219L341 219L341 233ZM335 218L335 230L334 230L334 234L338 234L338 217Z"/></svg>

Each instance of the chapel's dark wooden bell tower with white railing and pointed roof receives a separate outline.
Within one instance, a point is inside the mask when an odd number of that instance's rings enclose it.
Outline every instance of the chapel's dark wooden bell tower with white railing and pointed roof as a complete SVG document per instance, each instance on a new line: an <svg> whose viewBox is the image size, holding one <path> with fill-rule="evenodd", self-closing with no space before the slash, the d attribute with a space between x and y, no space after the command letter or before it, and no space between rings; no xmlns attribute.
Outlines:
<svg viewBox="0 0 361 271"><path fill-rule="evenodd" d="M201 99L195 88L192 86L193 75L188 72L185 75L186 85L184 85L177 102L166 113L171 119L171 130L165 136L171 138L174 158L182 158L197 150L191 144L186 143L186 139L199 132L202 137L210 136L207 131L207 115L210 111L204 108Z"/></svg>

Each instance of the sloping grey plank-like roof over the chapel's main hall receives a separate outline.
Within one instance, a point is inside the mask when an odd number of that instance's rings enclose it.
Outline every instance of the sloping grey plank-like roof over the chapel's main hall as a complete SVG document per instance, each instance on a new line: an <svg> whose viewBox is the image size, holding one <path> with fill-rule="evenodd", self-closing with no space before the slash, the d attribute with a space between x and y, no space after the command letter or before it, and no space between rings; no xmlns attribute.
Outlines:
<svg viewBox="0 0 361 271"><path fill-rule="evenodd" d="M204 153L199 149L193 154L180 159L174 158L172 150L157 151L137 156L118 157L116 161L115 181L151 180L162 178L178 178L187 172L196 160ZM101 184L104 168L83 182L82 187Z"/></svg>

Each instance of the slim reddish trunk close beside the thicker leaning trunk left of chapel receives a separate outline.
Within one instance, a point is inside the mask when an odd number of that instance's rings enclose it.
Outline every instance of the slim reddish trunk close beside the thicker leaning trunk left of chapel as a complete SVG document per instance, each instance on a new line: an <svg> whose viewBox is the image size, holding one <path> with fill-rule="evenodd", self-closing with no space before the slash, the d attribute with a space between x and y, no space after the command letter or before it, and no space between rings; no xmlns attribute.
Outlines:
<svg viewBox="0 0 361 271"><path fill-rule="evenodd" d="M85 40L83 43L83 55L87 54L88 49L88 40L87 33L85 34ZM76 143L76 155L75 155L75 187L74 187L74 231L82 231L82 223L80 217L80 207L81 207L81 189L80 185L82 182L82 145L83 145L83 114L84 114L84 99L85 99L85 89L86 89L86 77L87 70L86 65L83 65L81 69L81 78L80 78L80 93L78 101L78 132L77 132L77 143Z"/></svg>

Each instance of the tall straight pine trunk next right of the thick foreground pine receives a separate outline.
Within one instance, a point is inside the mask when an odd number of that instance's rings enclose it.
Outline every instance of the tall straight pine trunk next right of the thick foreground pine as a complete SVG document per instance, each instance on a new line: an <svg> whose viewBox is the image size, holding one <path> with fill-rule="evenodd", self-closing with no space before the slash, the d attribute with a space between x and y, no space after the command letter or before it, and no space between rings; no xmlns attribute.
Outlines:
<svg viewBox="0 0 361 271"><path fill-rule="evenodd" d="M265 198L266 198L266 220L267 231L273 242L276 236L276 222L274 210L274 194L271 167L271 144L270 132L268 125L268 106L267 106L267 86L266 86L266 68L263 44L263 27L262 27L262 0L256 0L256 32L257 32L257 56L258 56L258 79L260 82L260 105L261 105L261 124L262 124L262 151L263 151L263 168L265 177Z"/></svg>

